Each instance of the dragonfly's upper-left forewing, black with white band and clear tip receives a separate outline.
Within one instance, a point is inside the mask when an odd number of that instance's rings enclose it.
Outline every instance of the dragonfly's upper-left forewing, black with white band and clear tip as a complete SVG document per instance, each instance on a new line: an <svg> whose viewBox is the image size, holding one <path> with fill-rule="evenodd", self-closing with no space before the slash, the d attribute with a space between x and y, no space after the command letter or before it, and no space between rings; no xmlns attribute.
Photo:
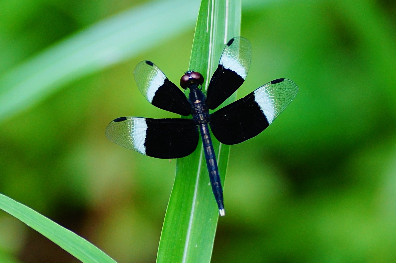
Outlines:
<svg viewBox="0 0 396 263"><path fill-rule="evenodd" d="M152 105L184 116L191 114L191 105L184 93L152 62L137 64L133 76L139 91Z"/></svg>

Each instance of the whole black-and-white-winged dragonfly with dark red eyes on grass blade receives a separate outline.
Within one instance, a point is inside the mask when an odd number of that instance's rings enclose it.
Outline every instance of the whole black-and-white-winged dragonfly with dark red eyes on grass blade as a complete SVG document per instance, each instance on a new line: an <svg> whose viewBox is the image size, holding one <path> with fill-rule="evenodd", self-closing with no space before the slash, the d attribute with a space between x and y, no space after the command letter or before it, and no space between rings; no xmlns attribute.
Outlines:
<svg viewBox="0 0 396 263"><path fill-rule="evenodd" d="M223 144L238 144L253 138L270 125L297 94L297 85L289 79L275 79L244 98L209 114L244 83L251 59L246 38L228 41L206 93L202 92L204 77L187 71L180 86L189 89L188 98L152 62L137 64L133 74L139 90L152 105L191 119L152 119L120 117L106 128L110 141L144 155L162 159L190 155L198 145L199 134L211 187L219 213L225 215L223 190L213 150L210 130ZM198 132L199 130L199 132Z"/></svg>

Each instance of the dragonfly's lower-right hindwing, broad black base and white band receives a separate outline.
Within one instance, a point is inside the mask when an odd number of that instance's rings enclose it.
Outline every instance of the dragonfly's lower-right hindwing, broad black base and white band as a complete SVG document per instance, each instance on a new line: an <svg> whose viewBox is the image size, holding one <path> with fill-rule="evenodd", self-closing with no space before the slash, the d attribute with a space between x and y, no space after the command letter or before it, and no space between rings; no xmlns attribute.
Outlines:
<svg viewBox="0 0 396 263"><path fill-rule="evenodd" d="M290 79L275 79L210 116L213 135L223 144L238 144L264 131L298 91Z"/></svg>

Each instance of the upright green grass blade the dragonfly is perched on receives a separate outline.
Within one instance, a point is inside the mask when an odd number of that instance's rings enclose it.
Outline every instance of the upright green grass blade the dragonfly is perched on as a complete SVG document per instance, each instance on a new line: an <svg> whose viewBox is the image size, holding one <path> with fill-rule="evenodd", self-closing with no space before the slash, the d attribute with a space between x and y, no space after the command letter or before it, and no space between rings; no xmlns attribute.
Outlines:
<svg viewBox="0 0 396 263"><path fill-rule="evenodd" d="M225 44L240 35L240 15L240 0L203 0L201 3L188 68L204 76L206 88ZM225 104L235 97L234 94ZM213 136L212 140L224 185L229 146L219 144ZM227 211L227 200L225 208ZM157 263L210 262L218 217L200 142L194 153L177 159Z"/></svg>

